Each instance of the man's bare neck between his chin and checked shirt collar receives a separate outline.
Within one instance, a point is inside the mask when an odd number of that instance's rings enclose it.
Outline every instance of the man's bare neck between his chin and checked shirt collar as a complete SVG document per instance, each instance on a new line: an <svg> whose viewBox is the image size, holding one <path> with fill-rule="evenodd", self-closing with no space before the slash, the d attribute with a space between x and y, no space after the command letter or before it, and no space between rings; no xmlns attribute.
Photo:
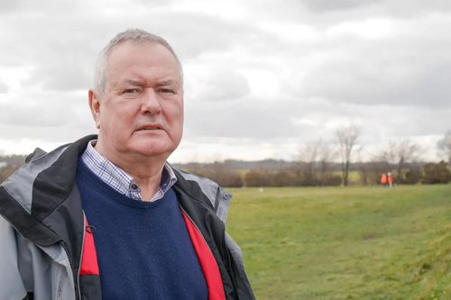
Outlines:
<svg viewBox="0 0 451 300"><path fill-rule="evenodd" d="M161 173L166 161L165 158L159 156L125 155L115 151L107 151L99 141L97 141L94 148L115 166L133 177L133 180L141 188L143 201L152 199L152 196L155 195L161 185Z"/></svg>

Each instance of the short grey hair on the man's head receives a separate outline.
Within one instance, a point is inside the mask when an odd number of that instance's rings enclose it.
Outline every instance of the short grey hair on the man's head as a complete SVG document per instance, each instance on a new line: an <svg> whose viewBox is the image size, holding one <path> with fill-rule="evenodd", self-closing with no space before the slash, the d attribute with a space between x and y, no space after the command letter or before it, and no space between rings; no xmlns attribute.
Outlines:
<svg viewBox="0 0 451 300"><path fill-rule="evenodd" d="M104 95L106 83L109 79L109 69L108 69L108 58L111 51L115 49L116 46L124 43L125 41L133 41L135 43L157 43L170 50L170 53L177 60L179 65L181 85L183 86L183 68L179 58L175 54L172 47L168 41L164 40L156 34L146 32L142 29L127 29L125 32L118 33L107 45L106 47L98 53L96 67L94 68L94 88L100 95Z"/></svg>

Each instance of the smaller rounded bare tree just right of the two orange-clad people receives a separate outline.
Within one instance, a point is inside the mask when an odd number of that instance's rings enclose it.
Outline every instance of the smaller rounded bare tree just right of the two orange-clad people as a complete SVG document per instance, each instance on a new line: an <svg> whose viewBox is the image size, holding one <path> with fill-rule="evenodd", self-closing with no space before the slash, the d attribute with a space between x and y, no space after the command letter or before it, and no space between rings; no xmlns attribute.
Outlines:
<svg viewBox="0 0 451 300"><path fill-rule="evenodd" d="M402 183L403 169L407 168L412 162L418 161L424 150L419 144L410 140L390 141L388 156L398 171L396 182Z"/></svg>

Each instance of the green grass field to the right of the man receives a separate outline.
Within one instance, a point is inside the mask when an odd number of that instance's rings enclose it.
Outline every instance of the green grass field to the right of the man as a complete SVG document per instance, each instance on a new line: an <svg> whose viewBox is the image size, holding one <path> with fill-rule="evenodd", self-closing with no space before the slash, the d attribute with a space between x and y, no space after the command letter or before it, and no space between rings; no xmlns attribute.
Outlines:
<svg viewBox="0 0 451 300"><path fill-rule="evenodd" d="M259 300L451 300L451 185L230 191Z"/></svg>

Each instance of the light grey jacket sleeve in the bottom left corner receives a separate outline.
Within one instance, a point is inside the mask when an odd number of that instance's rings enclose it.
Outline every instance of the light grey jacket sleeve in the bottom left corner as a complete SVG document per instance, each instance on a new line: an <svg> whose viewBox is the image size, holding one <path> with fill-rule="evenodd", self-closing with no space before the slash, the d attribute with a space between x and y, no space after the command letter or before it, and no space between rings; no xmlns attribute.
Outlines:
<svg viewBox="0 0 451 300"><path fill-rule="evenodd" d="M17 254L14 228L0 215L0 299L26 299Z"/></svg>

